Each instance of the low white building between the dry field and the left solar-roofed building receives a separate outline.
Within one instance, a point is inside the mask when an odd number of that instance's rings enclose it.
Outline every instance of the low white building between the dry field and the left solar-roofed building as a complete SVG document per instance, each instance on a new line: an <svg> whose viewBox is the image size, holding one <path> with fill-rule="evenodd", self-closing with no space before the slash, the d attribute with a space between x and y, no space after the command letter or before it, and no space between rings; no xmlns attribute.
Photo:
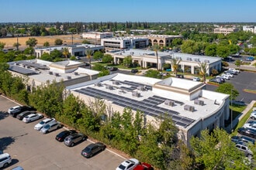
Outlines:
<svg viewBox="0 0 256 170"><path fill-rule="evenodd" d="M71 56L85 56L86 49L92 49L93 51L100 51L103 50L103 46L92 45L92 44L76 44L76 45L64 45L64 46L47 46L47 47L40 47L35 49L35 55L37 59L43 55L43 53L51 53L54 49L59 51L63 51L64 48L68 49L68 52L71 53Z"/></svg>

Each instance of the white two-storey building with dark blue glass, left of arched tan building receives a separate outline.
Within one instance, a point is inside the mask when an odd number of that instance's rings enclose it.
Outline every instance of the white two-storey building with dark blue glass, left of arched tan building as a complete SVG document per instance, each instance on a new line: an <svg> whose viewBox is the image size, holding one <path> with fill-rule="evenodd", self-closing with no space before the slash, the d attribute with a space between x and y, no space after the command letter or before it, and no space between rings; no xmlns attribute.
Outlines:
<svg viewBox="0 0 256 170"><path fill-rule="evenodd" d="M105 49L142 49L146 48L149 42L145 37L119 37L101 39L101 45Z"/></svg>

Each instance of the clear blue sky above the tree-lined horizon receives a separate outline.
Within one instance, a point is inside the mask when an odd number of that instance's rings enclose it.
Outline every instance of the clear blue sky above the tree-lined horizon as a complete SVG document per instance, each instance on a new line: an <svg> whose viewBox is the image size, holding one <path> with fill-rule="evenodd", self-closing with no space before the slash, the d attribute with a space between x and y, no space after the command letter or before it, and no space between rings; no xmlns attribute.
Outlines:
<svg viewBox="0 0 256 170"><path fill-rule="evenodd" d="M10 0L1 3L1 23L178 22L254 23L254 0Z"/></svg>

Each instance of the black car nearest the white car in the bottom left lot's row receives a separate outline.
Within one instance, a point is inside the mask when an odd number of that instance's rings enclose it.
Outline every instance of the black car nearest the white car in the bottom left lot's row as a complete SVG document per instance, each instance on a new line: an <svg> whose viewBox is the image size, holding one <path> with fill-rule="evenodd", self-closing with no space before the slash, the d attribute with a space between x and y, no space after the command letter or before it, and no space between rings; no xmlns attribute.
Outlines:
<svg viewBox="0 0 256 170"><path fill-rule="evenodd" d="M95 144L90 144L85 147L81 151L81 155L85 158L91 158L93 155L99 153L100 151L104 151L106 149L106 145L102 144L101 142L97 142Z"/></svg>

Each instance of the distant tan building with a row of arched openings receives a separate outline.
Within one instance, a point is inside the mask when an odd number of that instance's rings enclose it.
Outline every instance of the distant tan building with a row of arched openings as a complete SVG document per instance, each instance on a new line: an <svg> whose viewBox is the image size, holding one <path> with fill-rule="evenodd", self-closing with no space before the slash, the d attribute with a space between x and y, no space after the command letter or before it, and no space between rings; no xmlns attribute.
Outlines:
<svg viewBox="0 0 256 170"><path fill-rule="evenodd" d="M149 45L154 46L171 46L173 39L183 39L183 36L168 36L168 35L148 35Z"/></svg>

